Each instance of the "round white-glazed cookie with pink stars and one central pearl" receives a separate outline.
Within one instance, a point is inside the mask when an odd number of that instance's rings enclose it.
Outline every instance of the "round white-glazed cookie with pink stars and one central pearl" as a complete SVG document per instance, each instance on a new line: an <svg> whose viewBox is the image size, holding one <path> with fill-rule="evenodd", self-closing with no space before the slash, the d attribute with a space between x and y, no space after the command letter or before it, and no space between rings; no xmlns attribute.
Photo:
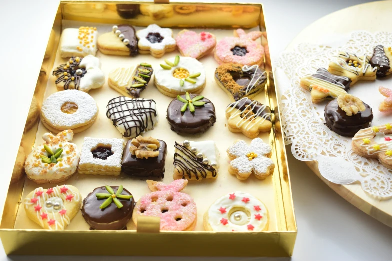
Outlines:
<svg viewBox="0 0 392 261"><path fill-rule="evenodd" d="M216 200L204 214L204 229L217 232L268 230L267 207L251 194L237 191Z"/></svg>

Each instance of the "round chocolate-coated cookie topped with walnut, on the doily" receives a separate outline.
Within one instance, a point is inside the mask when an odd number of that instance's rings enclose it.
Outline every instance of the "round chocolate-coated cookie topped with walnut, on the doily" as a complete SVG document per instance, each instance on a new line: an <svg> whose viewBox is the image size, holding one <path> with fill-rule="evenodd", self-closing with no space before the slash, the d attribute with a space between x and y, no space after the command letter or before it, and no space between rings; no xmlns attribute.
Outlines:
<svg viewBox="0 0 392 261"><path fill-rule="evenodd" d="M359 98L345 94L325 106L324 116L330 130L342 136L353 137L359 130L370 126L373 110Z"/></svg>

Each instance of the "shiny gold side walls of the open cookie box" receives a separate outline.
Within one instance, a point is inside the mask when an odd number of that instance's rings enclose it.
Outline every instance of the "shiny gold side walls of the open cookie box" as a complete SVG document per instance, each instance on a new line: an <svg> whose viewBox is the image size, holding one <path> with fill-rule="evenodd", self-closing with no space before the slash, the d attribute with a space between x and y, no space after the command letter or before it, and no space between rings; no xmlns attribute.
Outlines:
<svg viewBox="0 0 392 261"><path fill-rule="evenodd" d="M161 11L167 9L169 11ZM34 92L39 104L42 104L49 72L54 65L62 19L107 24L129 23L135 26L156 23L159 26L175 28L230 29L259 26L264 32L262 43L267 44L264 9L263 5L258 3L61 1L53 24L42 27L51 30L51 35ZM269 139L274 151L272 159L276 165L272 184L277 229L235 233L159 232L157 218L139 219L137 230L128 231L14 229L18 211L23 209L21 200L25 178L11 178L11 173L8 173L11 181L0 223L0 238L5 252L10 255L291 256L297 226L269 57L265 58L265 64L269 73L265 103L274 111L273 131L270 132ZM28 124L32 122L26 122L26 125ZM25 152L34 147L37 128L38 122L28 131L24 131L21 147ZM20 150L18 156L23 156ZM16 161L14 177L18 171L21 171L21 167Z"/></svg>

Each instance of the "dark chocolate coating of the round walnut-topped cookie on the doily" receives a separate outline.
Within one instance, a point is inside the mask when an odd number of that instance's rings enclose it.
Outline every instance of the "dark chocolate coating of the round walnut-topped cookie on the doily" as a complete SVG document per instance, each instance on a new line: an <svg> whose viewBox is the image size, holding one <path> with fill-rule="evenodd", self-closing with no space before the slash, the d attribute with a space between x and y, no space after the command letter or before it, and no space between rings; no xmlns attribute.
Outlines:
<svg viewBox="0 0 392 261"><path fill-rule="evenodd" d="M339 107L336 99L330 101L324 109L327 126L339 135L353 137L359 130L369 127L373 120L372 109L366 103L363 105L366 107L365 111L347 116Z"/></svg>

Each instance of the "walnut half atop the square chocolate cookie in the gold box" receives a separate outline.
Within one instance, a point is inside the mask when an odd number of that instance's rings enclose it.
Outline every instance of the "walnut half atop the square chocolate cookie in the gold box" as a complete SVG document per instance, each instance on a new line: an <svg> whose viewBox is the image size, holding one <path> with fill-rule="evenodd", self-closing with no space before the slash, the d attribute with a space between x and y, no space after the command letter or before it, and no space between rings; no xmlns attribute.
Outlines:
<svg viewBox="0 0 392 261"><path fill-rule="evenodd" d="M159 155L159 141L152 137L137 136L131 140L129 152L137 158L157 157ZM156 151L157 150L157 151Z"/></svg>

